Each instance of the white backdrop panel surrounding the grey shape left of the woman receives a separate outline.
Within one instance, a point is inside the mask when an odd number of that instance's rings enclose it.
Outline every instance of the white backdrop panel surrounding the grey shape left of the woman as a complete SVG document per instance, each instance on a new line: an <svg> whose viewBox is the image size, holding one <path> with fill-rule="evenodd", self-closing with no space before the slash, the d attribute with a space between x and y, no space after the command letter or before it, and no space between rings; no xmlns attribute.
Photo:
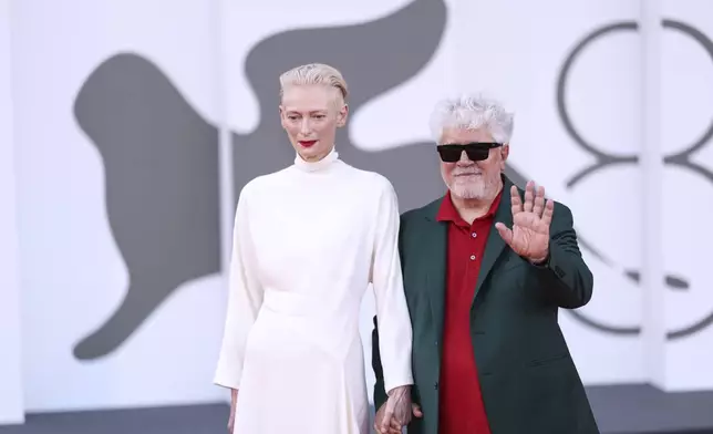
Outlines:
<svg viewBox="0 0 713 434"><path fill-rule="evenodd" d="M174 1L169 11L165 4L13 2L28 411L221 396L211 385L224 314L219 275L183 285L108 355L73 355L122 303L130 283L108 227L103 162L73 113L83 82L107 58L136 51L197 110L217 116L216 2ZM114 103L105 101L108 108Z"/></svg>

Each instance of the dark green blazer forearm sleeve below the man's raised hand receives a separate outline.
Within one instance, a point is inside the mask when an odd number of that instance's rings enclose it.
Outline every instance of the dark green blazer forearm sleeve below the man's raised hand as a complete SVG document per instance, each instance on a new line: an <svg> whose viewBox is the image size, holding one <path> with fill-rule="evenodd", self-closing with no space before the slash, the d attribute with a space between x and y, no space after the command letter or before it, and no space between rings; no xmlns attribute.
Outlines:
<svg viewBox="0 0 713 434"><path fill-rule="evenodd" d="M555 205L549 256L537 268L551 299L560 308L577 309L591 299L593 276L579 250L572 213L565 205Z"/></svg>

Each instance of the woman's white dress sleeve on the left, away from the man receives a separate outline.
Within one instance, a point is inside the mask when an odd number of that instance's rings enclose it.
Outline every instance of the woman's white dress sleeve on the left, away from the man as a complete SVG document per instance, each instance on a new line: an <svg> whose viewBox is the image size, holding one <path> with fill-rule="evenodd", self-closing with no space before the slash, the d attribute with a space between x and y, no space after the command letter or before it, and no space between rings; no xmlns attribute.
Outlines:
<svg viewBox="0 0 713 434"><path fill-rule="evenodd" d="M228 308L215 384L239 389L248 334L262 304L262 288L251 265L246 189L240 193L235 213L232 250L228 277Z"/></svg>

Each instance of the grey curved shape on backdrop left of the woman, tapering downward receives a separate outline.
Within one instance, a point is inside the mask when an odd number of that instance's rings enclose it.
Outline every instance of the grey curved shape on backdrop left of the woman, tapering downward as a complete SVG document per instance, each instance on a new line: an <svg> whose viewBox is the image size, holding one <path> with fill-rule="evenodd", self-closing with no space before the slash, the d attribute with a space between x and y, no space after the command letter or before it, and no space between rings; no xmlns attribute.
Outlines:
<svg viewBox="0 0 713 434"><path fill-rule="evenodd" d="M74 349L114 351L182 283L220 271L218 130L148 61L115 55L75 101L104 164L106 214L128 268L108 320Z"/></svg>

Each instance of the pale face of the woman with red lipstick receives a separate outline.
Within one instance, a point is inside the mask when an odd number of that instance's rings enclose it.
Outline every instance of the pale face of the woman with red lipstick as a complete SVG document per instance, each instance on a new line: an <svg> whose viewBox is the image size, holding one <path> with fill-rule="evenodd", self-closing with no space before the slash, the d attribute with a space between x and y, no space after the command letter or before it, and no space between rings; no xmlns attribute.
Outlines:
<svg viewBox="0 0 713 434"><path fill-rule="evenodd" d="M280 121L294 151L307 162L322 159L332 146L337 128L344 126L348 108L337 89L298 85L285 89Z"/></svg>

